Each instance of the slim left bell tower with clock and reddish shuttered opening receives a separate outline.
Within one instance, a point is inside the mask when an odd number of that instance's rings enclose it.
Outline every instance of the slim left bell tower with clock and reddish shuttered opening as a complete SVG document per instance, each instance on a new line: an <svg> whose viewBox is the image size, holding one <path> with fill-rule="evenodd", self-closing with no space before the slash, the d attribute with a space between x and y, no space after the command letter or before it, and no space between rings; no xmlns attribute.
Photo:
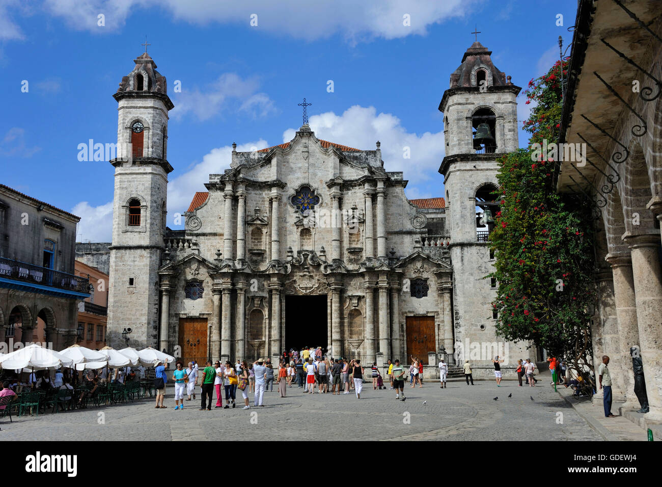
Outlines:
<svg viewBox="0 0 662 487"><path fill-rule="evenodd" d="M156 346L158 268L166 231L168 111L166 78L147 52L134 60L113 97L118 103L107 343Z"/></svg>

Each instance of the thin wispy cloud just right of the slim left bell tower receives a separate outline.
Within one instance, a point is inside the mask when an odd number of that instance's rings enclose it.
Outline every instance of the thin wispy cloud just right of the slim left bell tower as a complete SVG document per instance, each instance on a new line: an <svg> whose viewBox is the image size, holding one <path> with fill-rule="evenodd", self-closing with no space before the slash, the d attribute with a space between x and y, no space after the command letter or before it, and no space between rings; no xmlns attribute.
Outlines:
<svg viewBox="0 0 662 487"><path fill-rule="evenodd" d="M190 112L200 121L205 121L229 109L245 111L254 118L266 117L275 113L276 109L266 93L256 93L259 87L256 78L242 80L236 73L225 73L203 91L198 87L187 91L183 87L181 93L173 93L175 108L171 114L181 119ZM242 99L244 101L240 103Z"/></svg>

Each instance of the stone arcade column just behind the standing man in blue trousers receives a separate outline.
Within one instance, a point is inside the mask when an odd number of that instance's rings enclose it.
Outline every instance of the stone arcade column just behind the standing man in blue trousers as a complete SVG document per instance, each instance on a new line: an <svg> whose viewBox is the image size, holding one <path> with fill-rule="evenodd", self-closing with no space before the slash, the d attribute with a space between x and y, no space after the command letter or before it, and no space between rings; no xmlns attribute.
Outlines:
<svg viewBox="0 0 662 487"><path fill-rule="evenodd" d="M602 350L595 354L596 364L600 364L602 355L610 358L609 371L612 376L612 396L614 401L625 400L625 370L618 337L618 317L614 302L614 283L612 272L598 272L596 284L598 288L598 319L602 323ZM630 361L632 363L632 361ZM627 362L626 362L627 364ZM633 386L634 387L634 386ZM598 391L600 392L600 391Z"/></svg>

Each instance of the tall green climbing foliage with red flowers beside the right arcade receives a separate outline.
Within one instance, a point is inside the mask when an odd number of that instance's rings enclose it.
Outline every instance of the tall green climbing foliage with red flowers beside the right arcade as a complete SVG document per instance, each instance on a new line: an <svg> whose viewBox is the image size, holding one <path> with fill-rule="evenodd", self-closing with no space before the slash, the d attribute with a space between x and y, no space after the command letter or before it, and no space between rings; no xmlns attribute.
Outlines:
<svg viewBox="0 0 662 487"><path fill-rule="evenodd" d="M555 72L532 80L526 91L537 103L524 128L530 143L556 142L561 93ZM593 235L588 205L552 187L552 160L520 149L498 161L500 211L491 242L496 250L496 332L509 341L533 341L573 364L591 356L590 323L596 299Z"/></svg>

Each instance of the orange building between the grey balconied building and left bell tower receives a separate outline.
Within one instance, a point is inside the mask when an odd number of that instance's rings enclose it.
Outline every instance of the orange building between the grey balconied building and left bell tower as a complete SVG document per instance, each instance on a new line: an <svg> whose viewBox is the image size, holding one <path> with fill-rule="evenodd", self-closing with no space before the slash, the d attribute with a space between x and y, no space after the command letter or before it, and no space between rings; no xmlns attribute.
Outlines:
<svg viewBox="0 0 662 487"><path fill-rule="evenodd" d="M106 315L108 305L108 274L75 261L75 274L89 279L89 298L78 303L76 341L81 347L103 349L106 346Z"/></svg>

